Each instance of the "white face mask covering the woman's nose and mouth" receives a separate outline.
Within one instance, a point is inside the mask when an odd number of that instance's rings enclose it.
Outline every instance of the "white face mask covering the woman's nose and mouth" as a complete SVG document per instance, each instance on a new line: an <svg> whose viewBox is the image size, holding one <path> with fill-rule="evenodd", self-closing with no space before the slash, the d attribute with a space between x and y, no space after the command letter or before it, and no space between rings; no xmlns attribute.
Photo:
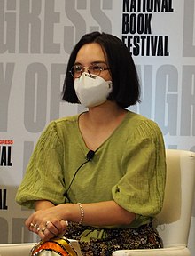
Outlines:
<svg viewBox="0 0 195 256"><path fill-rule="evenodd" d="M74 88L82 105L90 108L104 103L113 87L112 81L83 72L82 76L74 80Z"/></svg>

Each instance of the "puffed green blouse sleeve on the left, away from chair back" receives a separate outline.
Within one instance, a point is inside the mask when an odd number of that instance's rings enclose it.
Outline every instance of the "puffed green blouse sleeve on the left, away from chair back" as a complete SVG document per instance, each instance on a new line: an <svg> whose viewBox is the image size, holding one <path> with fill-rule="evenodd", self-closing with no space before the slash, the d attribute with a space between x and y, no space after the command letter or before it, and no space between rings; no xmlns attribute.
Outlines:
<svg viewBox="0 0 195 256"><path fill-rule="evenodd" d="M63 154L56 124L51 122L39 138L27 165L17 191L17 203L34 208L36 200L49 200L53 204L64 202Z"/></svg>

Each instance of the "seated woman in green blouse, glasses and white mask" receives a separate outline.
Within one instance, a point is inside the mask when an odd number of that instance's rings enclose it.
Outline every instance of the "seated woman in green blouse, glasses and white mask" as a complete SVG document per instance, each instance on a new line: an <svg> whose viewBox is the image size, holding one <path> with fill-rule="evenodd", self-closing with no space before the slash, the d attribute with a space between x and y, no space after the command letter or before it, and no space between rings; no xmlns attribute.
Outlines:
<svg viewBox="0 0 195 256"><path fill-rule="evenodd" d="M139 95L125 44L105 33L82 36L63 100L88 111L48 125L16 197L35 208L26 226L43 241L77 239L83 255L162 246L152 219L163 204L165 148L158 125L126 109Z"/></svg>

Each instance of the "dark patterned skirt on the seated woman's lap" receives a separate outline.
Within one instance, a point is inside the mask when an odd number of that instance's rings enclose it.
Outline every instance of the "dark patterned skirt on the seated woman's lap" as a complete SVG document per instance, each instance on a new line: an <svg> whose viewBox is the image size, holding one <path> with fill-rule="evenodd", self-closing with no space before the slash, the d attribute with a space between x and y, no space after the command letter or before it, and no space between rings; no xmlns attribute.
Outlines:
<svg viewBox="0 0 195 256"><path fill-rule="evenodd" d="M83 256L110 256L116 250L162 247L162 240L152 222L139 228L117 229L79 226L70 222L65 236L79 241Z"/></svg>

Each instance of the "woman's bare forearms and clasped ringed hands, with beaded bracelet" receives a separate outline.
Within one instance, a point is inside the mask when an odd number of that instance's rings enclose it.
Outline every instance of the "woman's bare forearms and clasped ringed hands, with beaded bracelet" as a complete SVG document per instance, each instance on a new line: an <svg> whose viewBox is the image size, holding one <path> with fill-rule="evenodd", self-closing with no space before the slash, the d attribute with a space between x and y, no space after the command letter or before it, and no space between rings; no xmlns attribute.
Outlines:
<svg viewBox="0 0 195 256"><path fill-rule="evenodd" d="M135 213L128 212L114 201L55 206L50 201L40 200L35 202L35 212L26 220L26 226L43 240L48 240L66 232L68 223L66 220L105 227L128 225L135 217Z"/></svg>

